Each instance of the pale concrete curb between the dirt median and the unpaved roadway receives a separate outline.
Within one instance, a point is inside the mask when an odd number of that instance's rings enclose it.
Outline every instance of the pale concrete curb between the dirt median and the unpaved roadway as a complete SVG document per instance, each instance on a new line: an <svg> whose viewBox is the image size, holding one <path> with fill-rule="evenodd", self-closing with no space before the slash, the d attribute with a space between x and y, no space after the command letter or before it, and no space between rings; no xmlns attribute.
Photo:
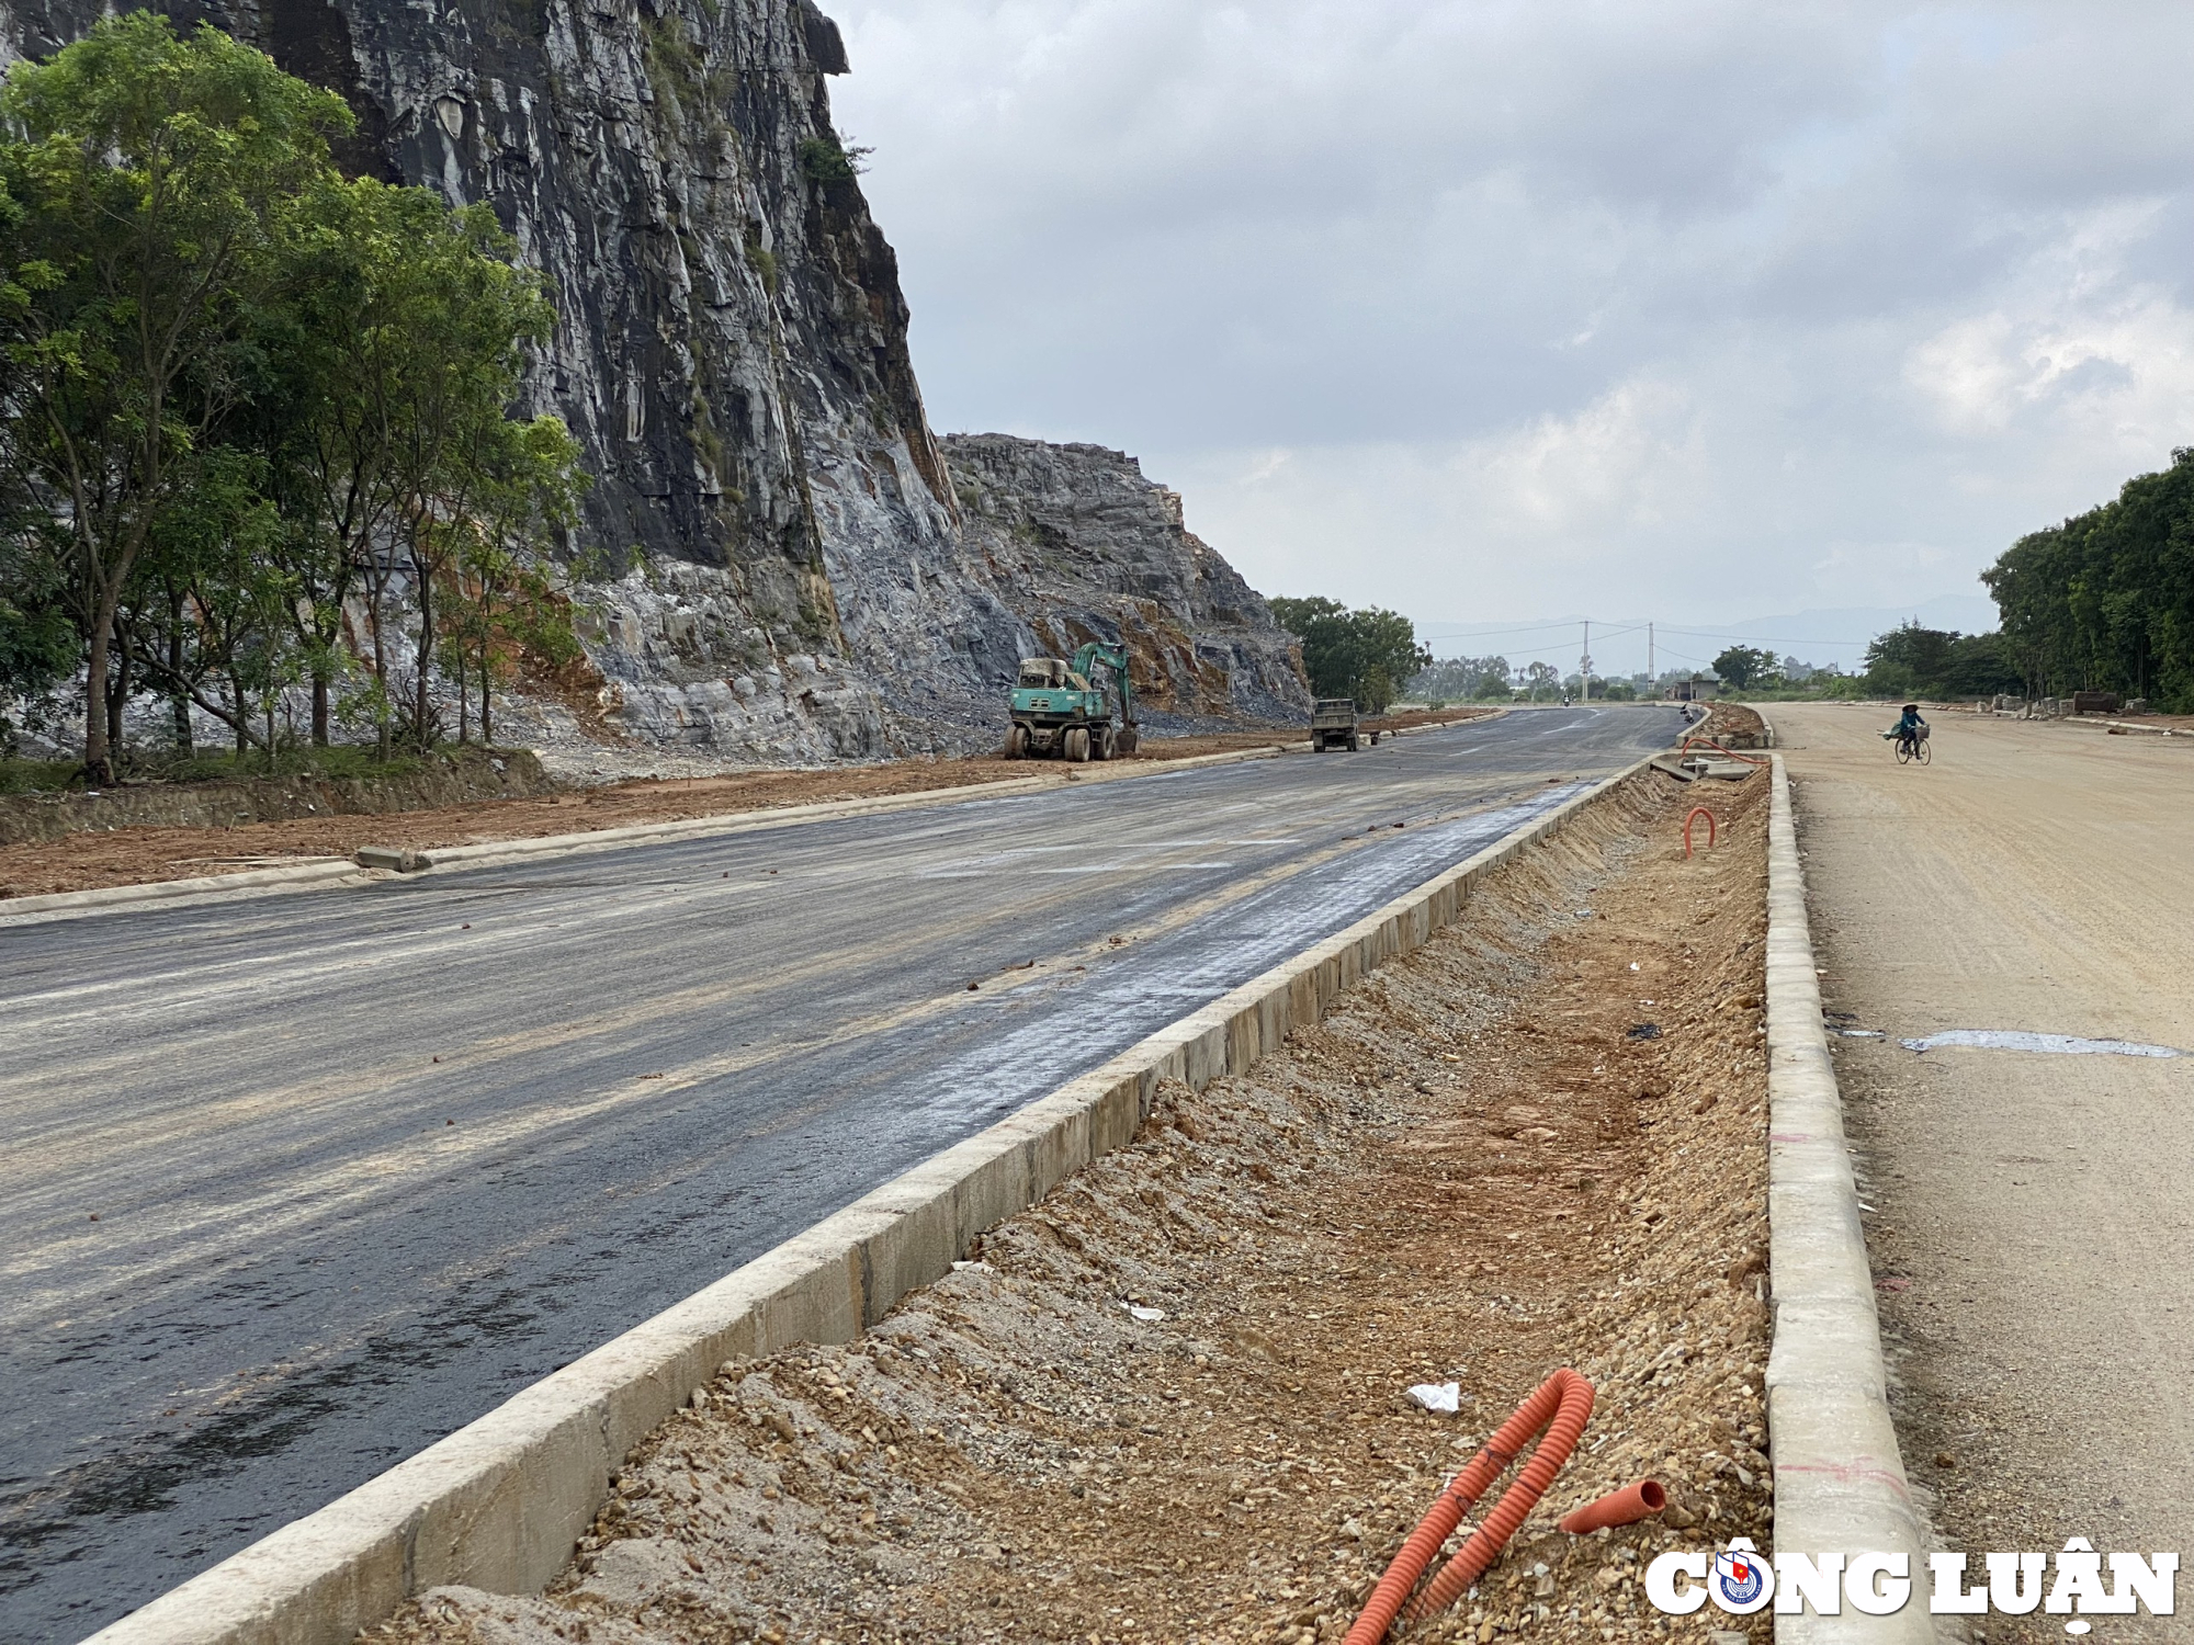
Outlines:
<svg viewBox="0 0 2194 1645"><path fill-rule="evenodd" d="M1775 1616L1777 1645L1933 1641L1926 1542L1889 1421L1874 1270L1821 1026L1790 779L1773 755L1768 818L1768 1434L1775 1546L1904 1553L1913 1599L1893 1616Z"/></svg>

